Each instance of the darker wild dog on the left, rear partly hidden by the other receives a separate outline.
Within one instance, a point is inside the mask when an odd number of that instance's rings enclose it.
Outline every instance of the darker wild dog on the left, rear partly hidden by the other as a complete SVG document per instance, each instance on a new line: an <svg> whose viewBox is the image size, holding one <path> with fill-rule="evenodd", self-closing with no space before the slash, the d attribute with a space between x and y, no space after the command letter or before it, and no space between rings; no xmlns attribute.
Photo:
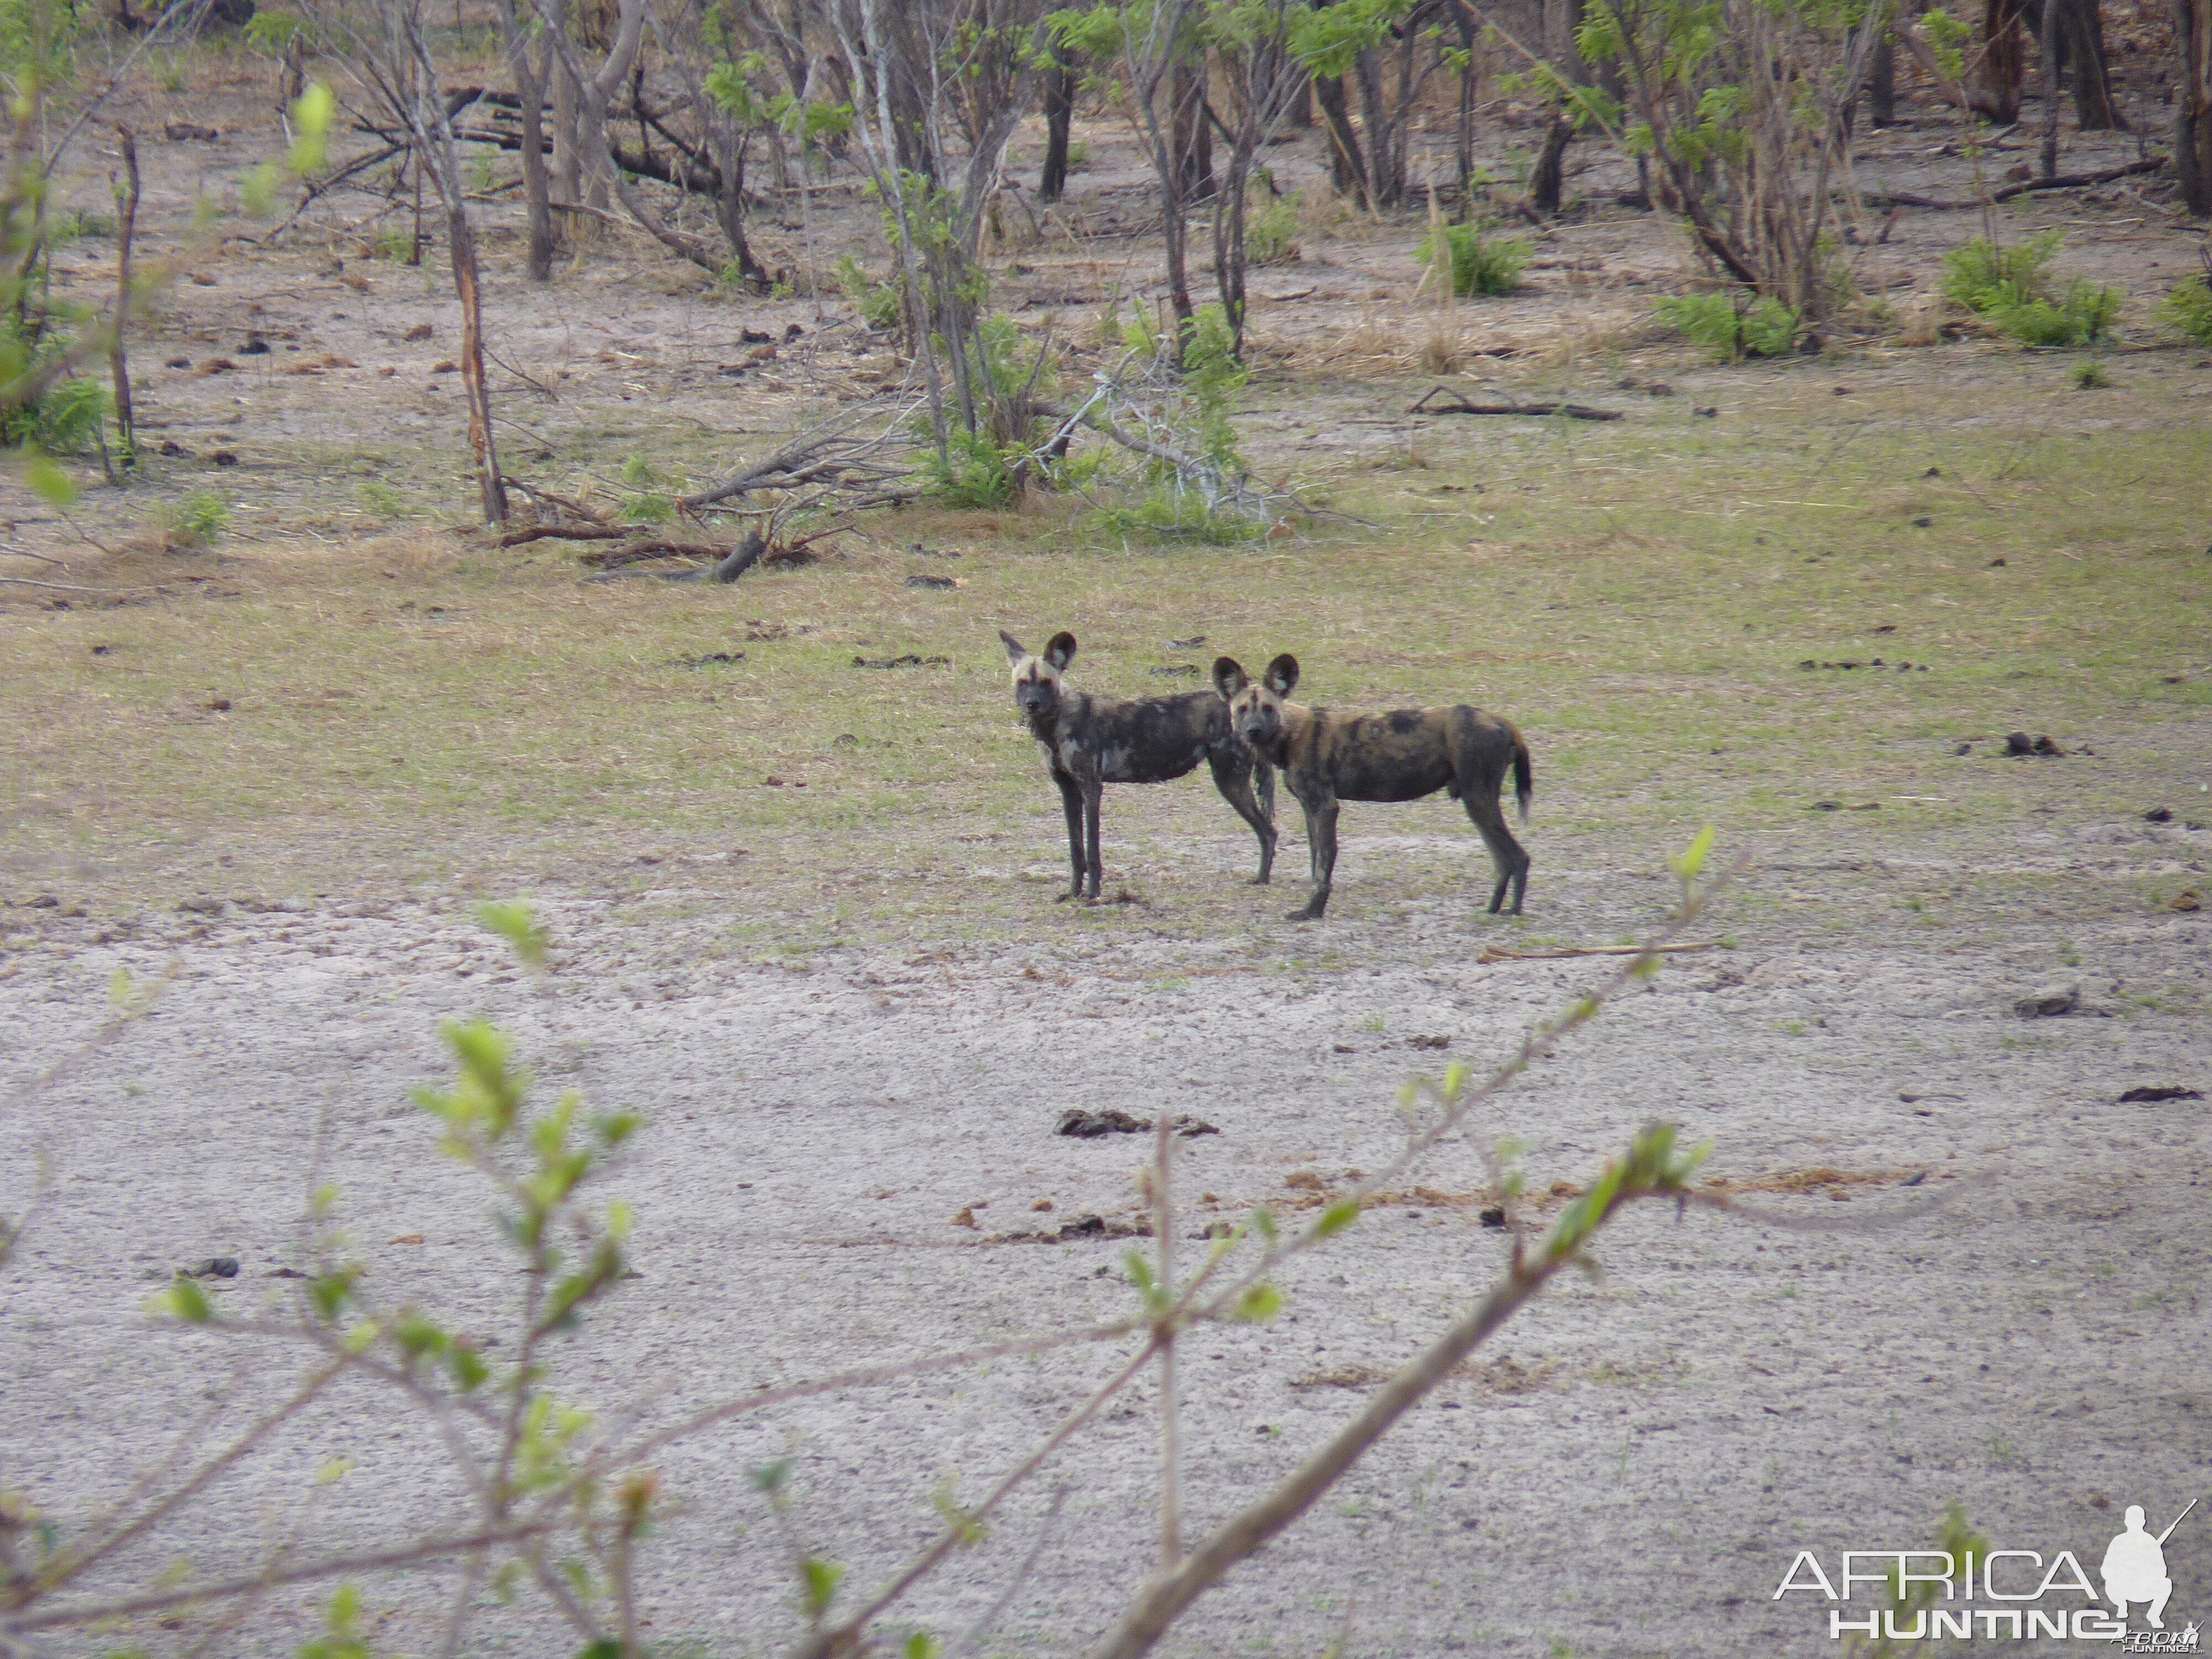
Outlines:
<svg viewBox="0 0 2212 1659"><path fill-rule="evenodd" d="M1075 661L1075 635L1055 633L1042 657L1000 630L1013 664L1013 706L1044 750L1068 816L1068 898L1099 896L1099 796L1106 783L1166 783L1206 761L1221 799L1259 836L1259 876L1274 869L1274 768L1252 757L1230 730L1230 710L1212 692L1183 697L1093 697L1060 675ZM1259 781L1259 799L1252 783Z"/></svg>

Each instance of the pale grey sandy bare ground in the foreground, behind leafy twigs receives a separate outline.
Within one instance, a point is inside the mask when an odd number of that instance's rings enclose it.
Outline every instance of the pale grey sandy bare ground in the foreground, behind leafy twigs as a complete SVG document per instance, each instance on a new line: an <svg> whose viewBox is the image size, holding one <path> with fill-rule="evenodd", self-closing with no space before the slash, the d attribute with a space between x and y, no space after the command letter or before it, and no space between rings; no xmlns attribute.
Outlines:
<svg viewBox="0 0 2212 1659"><path fill-rule="evenodd" d="M2194 792L2188 770L2177 790ZM2188 794L2177 794L2188 807ZM1225 814L1223 814L1225 816ZM1462 843L1347 836L1356 869L1467 856ZM1411 845L1407 845L1411 843ZM1562 936L1657 916L1663 880L1588 858L1540 863L1531 905ZM1287 847L1296 858L1296 843ZM1559 1044L1475 1139L1533 1144L1531 1175L1586 1179L1646 1117L1719 1144L1712 1172L1783 1190L1776 1214L1891 1225L1790 1232L1644 1212L1413 1413L1279 1546L1181 1626L1175 1652L1772 1655L1832 1652L1825 1613L1770 1597L1798 1548L1933 1540L1951 1500L2000 1546L2101 1555L2119 1511L2163 1526L2208 1486L2212 1391L2201 1230L2203 1102L2119 1104L2141 1084L2212 1091L2203 914L2146 907L2137 878L2188 874L2212 832L2066 812L1885 856L1792 856L1723 902L1734 949L1677 960L1595 1031ZM1243 863L1221 830L1199 876ZM1137 869L1137 880L1166 872ZM1037 898L1044 905L1044 887ZM1604 962L1480 964L1458 902L1376 920L1338 898L1327 940L1274 920L1212 945L1084 940L1071 918L1004 949L825 956L805 969L703 960L730 900L641 929L604 898L549 905L551 989L502 964L456 909L343 905L97 920L11 911L0 993L7 1082L95 1022L113 967L175 980L157 1013L0 1119L4 1201L35 1159L53 1192L0 1279L7 1484L75 1526L186 1431L212 1444L296 1356L148 1334L137 1310L177 1265L237 1254L226 1310L281 1296L316 1126L325 1175L378 1294L416 1294L478 1332L515 1296L484 1194L436 1157L405 1095L445 1075L440 1018L484 1013L542 1084L650 1115L615 1186L635 1199L641 1279L560 1356L562 1394L648 1416L863 1358L925 1354L1130 1307L1124 1243L993 1243L1082 1214L1137 1212L1137 1139L1053 1135L1066 1106L1194 1110L1188 1230L1296 1201L1389 1157L1396 1086L1498 1055ZM1942 927L1898 905L1940 900ZM681 891L659 894L681 900ZM1068 916L1066 911L1060 911ZM1834 925L1834 918L1845 925ZM1493 936L1495 938L1495 936ZM1327 967L1312 953L1329 951ZM2068 962L2077 962L2070 967ZM2079 982L2081 1006L2013 1000ZM1449 1053L1411 1046L1449 1037ZM1796 1181L1787 1172L1825 1170ZM1827 1177L1836 1177L1829 1181ZM1905 1186L1916 1181L1913 1186ZM1482 1164L1449 1146L1425 1194L1369 1212L1285 1285L1267 1329L1190 1345L1192 1526L1285 1473L1385 1367L1495 1270ZM1809 1190L1790 1190L1807 1188ZM1051 1214L1031 1206L1048 1199ZM971 1208L978 1230L951 1225ZM420 1237L420 1243L398 1243ZM394 1243L387 1243L394 1241ZM1197 1245L1190 1245L1197 1250ZM265 1376L239 1376L268 1360ZM1108 1352L816 1400L668 1458L681 1515L655 1542L650 1637L668 1652L770 1652L794 1628L781 1544L745 1467L792 1455L796 1524L876 1584L936 1526L929 1491L973 1498L1110 1367ZM1073 1652L1150 1562L1155 1418L1139 1389L1053 1464L914 1621L960 1628L998 1597L1053 1486L1066 1509L987 1652ZM281 1540L367 1544L460 1513L427 1425L332 1398L159 1544L241 1571ZM330 1486L330 1458L352 1471ZM2212 1533L2168 1546L2174 1613L2212 1613ZM378 1644L425 1652L451 1579L369 1584ZM310 1595L279 1595L234 1652L290 1652ZM106 1641L153 1652L190 1630ZM535 1613L487 1608L478 1652L560 1652ZM688 1646L686 1646L688 1644Z"/></svg>

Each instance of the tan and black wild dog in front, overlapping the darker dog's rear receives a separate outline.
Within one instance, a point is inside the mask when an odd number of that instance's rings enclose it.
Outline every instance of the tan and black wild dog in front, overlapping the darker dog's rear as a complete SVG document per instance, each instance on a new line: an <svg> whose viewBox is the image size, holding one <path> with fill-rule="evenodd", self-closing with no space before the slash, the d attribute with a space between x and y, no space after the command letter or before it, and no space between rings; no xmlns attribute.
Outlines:
<svg viewBox="0 0 2212 1659"><path fill-rule="evenodd" d="M1491 849L1498 887L1491 916L1513 889L1513 914L1528 887L1528 852L1506 830L1498 805L1506 772L1513 772L1522 823L1528 823L1528 745L1511 721L1480 708L1398 708L1389 714L1338 714L1292 703L1298 659L1283 653L1261 679L1252 679L1234 657L1214 664L1214 690L1228 703L1237 737L1261 761L1283 770L1283 781L1305 807L1305 841L1314 856L1314 891L1294 922L1316 922L1329 907L1336 876L1338 801L1418 801L1451 790L1475 821Z"/></svg>

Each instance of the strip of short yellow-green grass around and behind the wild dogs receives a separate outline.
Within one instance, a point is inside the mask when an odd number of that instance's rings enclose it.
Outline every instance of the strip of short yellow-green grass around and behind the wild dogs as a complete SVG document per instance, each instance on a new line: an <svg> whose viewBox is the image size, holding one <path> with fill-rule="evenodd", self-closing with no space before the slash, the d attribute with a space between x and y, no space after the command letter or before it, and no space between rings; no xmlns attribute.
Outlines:
<svg viewBox="0 0 2212 1659"><path fill-rule="evenodd" d="M2128 398L2097 409L2115 425L2079 431L2055 425L2048 387L1995 374L1902 387L1843 449L1825 383L1794 365L1732 374L1728 396L1756 396L1756 422L1674 407L1606 427L1440 422L1420 484L1482 482L1451 500L1480 504L1486 524L1409 518L1433 495L1345 460L1340 498L1367 524L1228 551L1124 546L1075 504L1042 500L869 518L872 542L730 588L586 584L546 544L438 533L226 544L239 597L221 604L33 611L18 597L0 630L13 734L0 792L27 805L0 823L0 854L15 867L157 856L159 878L131 880L181 894L243 883L248 867L272 889L314 891L336 872L394 891L515 891L606 883L622 847L688 860L670 869L697 891L743 894L728 933L743 956L887 938L1256 936L1270 951L1290 938L1296 803L1279 803L1276 887L1254 894L1250 834L1203 772L1108 792L1108 880L1148 905L1053 905L1060 801L1013 719L998 628L1031 646L1075 630L1071 679L1086 690L1190 690L1150 670L1294 650L1318 703L1464 699L1509 714L1535 752L1537 925L1548 869L1663 874L1659 852L1708 821L1725 845L1829 856L1838 838L1980 836L2046 805L2101 821L2130 768L2194 765L2212 688L2161 677L2201 650L2201 502L2185 480L2212 471L2212 436L2185 372L2146 361ZM1962 427L1969 394L1982 420ZM1323 394L1263 383L1259 396ZM595 440L602 456L706 471L648 442L628 429ZM347 504L349 465L330 469ZM394 451L392 465L411 462ZM960 553L942 568L962 586L907 588L909 542ZM1874 639L1876 624L1896 633ZM1164 644L1201 633L1203 648ZM677 666L723 650L745 657ZM905 653L951 661L852 666ZM1871 655L1931 670L1796 666ZM210 714L212 699L232 708ZM2022 723L2062 741L2090 723L2115 745L2137 737L2097 768L1989 759L1991 730ZM1953 754L1969 739L1975 752ZM1555 781L1571 781L1571 810ZM1812 814L1816 799L1882 810ZM1345 834L1407 852L1347 843L1332 925L1413 905L1464 909L1475 931L1489 878L1458 803L1354 805ZM208 876L210 847L237 865ZM1942 907L1973 929L2017 891ZM1778 891L1730 902L1745 940L1818 914ZM1902 916L1887 896L1860 916L1885 909Z"/></svg>

